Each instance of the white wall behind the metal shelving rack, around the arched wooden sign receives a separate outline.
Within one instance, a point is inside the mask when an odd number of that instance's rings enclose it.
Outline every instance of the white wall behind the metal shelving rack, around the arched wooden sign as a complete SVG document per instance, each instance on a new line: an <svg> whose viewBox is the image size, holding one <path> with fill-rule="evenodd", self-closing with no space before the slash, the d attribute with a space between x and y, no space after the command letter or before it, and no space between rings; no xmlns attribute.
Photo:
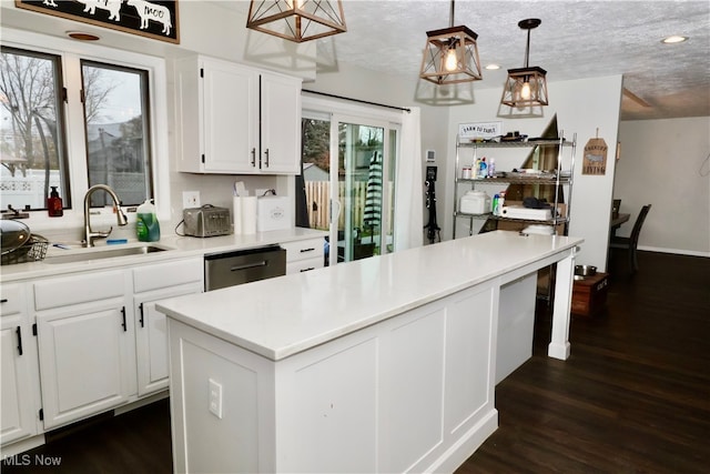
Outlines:
<svg viewBox="0 0 710 474"><path fill-rule="evenodd" d="M478 121L503 121L503 132L519 131L528 137L539 137L557 113L557 123L565 135L571 139L577 133L575 183L571 196L569 234L585 239L578 263L606 269L609 239L609 219L613 186L613 171L619 109L621 103L621 77L595 78L577 81L548 83L549 102L542 108L542 117L504 118L499 113L503 82L498 89L476 91L473 105L453 107L449 111L447 139L449 142L446 170L447 180L454 180L455 140L459 123ZM500 109L501 113L505 109ZM581 159L587 141L597 135L609 147L605 175L581 174ZM499 171L505 171L500 170ZM453 193L453 192L452 192ZM453 229L454 196L446 196L444 230L447 238Z"/></svg>

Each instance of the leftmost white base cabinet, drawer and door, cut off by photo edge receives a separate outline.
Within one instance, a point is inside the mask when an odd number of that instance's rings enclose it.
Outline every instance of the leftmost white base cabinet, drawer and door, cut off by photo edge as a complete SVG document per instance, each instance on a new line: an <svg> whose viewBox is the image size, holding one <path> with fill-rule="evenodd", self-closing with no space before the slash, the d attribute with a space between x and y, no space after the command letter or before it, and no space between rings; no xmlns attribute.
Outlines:
<svg viewBox="0 0 710 474"><path fill-rule="evenodd" d="M37 346L28 319L24 285L2 285L0 301L0 443L6 445L37 434L33 380L37 379L39 369Z"/></svg>

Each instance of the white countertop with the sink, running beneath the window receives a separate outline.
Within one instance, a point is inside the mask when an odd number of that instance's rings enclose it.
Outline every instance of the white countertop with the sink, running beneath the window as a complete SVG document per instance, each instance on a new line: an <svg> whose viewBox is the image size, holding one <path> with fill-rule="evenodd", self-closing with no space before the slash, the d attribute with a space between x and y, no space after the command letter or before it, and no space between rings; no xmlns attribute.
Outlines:
<svg viewBox="0 0 710 474"><path fill-rule="evenodd" d="M163 235L158 242L129 241L125 244L108 245L105 241L98 241L94 249L62 250L50 246L47 259L39 262L3 265L0 269L0 282L32 280L42 276L55 276L59 274L81 273L92 270L133 266L151 262L181 259L186 256L209 255L211 253L229 252L235 250L254 249L264 245L281 244L304 239L324 238L324 231L294 228L281 231L257 232L250 235L220 235L212 238L193 238L182 235ZM116 256L110 259L84 260L71 263L51 263L54 255L68 255L71 253L101 252L104 250L121 249L126 246L154 245L164 249L163 252L150 254Z"/></svg>

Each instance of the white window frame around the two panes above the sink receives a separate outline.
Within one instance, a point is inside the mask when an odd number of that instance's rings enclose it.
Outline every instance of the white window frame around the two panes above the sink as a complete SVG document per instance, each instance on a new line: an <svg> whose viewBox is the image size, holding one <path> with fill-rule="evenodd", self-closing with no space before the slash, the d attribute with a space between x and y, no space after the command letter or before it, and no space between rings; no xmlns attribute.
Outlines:
<svg viewBox="0 0 710 474"><path fill-rule="evenodd" d="M69 39L4 29L2 46L20 50L55 54L60 57L61 84L67 89L67 103L63 105L65 124L64 147L67 151L67 189L70 190L71 208L64 210L61 218L50 218L47 211L31 211L26 223L32 230L67 231L83 226L83 198L89 189L87 144L84 131L84 109L81 102L81 60L111 64L148 72L148 108L150 111L149 130L151 154L152 198L155 200L158 216L170 220L170 162L168 135L168 77L163 58L139 54L99 44L80 43ZM94 213L98 213L94 215ZM135 222L135 213L129 213L129 222ZM92 209L92 224L97 226L115 224L110 208Z"/></svg>

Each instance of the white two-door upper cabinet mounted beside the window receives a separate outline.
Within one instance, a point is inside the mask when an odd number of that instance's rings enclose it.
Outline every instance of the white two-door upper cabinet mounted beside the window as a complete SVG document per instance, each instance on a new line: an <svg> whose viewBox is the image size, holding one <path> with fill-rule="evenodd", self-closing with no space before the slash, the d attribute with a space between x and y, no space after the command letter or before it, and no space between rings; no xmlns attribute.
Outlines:
<svg viewBox="0 0 710 474"><path fill-rule="evenodd" d="M175 72L180 171L300 172L301 79L205 57Z"/></svg>

